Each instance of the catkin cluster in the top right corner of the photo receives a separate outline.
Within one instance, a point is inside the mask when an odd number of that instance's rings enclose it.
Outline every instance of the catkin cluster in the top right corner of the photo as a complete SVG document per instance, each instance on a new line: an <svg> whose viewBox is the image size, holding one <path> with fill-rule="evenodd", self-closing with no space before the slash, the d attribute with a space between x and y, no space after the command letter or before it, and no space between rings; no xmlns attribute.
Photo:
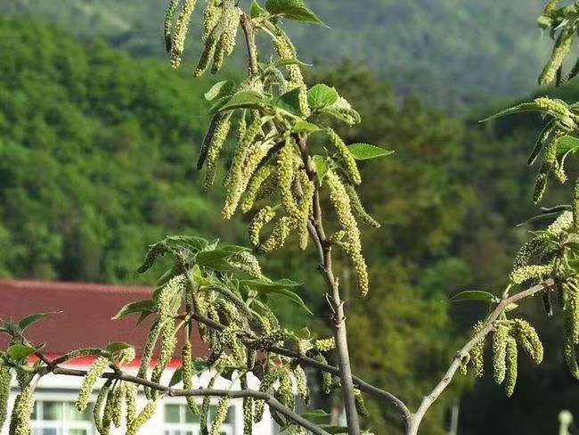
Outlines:
<svg viewBox="0 0 579 435"><path fill-rule="evenodd" d="M579 20L579 4L569 4L557 7L559 0L550 0L545 6L538 19L541 29L549 29L550 36L555 40L549 61L545 64L541 76L540 85L547 85L555 80L556 85L567 83L579 73L579 62L563 74L563 62L573 46L573 40L577 32L577 21Z"/></svg>

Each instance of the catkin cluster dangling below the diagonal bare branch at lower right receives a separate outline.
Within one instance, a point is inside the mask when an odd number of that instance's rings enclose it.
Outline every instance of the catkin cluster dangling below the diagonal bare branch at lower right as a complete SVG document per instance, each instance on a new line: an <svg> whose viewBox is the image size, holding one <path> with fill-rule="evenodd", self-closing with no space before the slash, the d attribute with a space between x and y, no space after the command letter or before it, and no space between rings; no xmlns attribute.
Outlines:
<svg viewBox="0 0 579 435"><path fill-rule="evenodd" d="M478 322L474 334L483 330L485 324ZM510 397L517 383L518 347L523 348L534 364L542 362L542 343L534 327L523 319L502 319L493 322L493 377L504 382L505 392ZM484 355L487 335L478 340L469 353L461 359L461 373L466 374L469 365L477 377L485 373Z"/></svg>

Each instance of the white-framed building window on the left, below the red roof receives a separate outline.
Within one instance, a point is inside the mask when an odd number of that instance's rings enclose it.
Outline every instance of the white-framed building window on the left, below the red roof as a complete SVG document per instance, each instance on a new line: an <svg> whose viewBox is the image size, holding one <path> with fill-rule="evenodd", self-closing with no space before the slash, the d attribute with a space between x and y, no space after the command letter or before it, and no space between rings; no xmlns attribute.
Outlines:
<svg viewBox="0 0 579 435"><path fill-rule="evenodd" d="M87 406L79 413L72 401L38 400L32 414L32 435L94 435Z"/></svg>

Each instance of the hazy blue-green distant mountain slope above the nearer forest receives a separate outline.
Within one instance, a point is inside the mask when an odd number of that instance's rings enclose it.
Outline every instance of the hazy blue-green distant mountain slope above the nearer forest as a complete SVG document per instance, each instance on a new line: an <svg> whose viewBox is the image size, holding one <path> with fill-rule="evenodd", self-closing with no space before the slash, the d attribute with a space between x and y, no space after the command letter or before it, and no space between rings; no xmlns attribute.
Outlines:
<svg viewBox="0 0 579 435"><path fill-rule="evenodd" d="M292 32L305 59L367 62L403 94L422 93L452 110L533 89L549 45L534 24L543 3L310 0L331 29L300 25ZM78 36L105 36L133 54L160 56L164 7L163 0L12 0L0 12L31 14Z"/></svg>

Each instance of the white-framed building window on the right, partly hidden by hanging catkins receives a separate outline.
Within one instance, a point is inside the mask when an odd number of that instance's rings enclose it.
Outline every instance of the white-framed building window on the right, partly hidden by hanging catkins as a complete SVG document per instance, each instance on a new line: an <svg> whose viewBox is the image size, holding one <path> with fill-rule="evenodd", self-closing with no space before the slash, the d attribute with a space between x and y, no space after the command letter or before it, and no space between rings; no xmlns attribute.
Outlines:
<svg viewBox="0 0 579 435"><path fill-rule="evenodd" d="M216 406L209 406L209 426L215 417L215 412ZM220 433L222 435L235 435L234 417L235 406L230 406L225 423L221 428ZM164 435L200 435L199 417L192 414L186 405L177 403L166 404Z"/></svg>

